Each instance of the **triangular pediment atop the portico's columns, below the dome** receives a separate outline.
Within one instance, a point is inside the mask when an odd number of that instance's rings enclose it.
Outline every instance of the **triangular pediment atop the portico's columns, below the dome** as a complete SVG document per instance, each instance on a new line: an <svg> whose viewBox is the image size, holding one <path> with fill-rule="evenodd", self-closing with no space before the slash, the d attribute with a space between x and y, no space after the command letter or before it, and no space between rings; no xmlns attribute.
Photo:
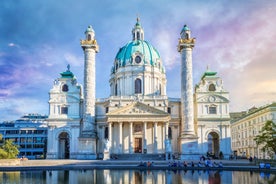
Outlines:
<svg viewBox="0 0 276 184"><path fill-rule="evenodd" d="M128 118L135 120L160 120L161 118L164 121L168 121L170 119L170 114L168 114L167 112L148 106L141 102L133 102L127 106L107 113L106 116L108 120L114 120L114 118L120 118L121 120L127 120Z"/></svg>

